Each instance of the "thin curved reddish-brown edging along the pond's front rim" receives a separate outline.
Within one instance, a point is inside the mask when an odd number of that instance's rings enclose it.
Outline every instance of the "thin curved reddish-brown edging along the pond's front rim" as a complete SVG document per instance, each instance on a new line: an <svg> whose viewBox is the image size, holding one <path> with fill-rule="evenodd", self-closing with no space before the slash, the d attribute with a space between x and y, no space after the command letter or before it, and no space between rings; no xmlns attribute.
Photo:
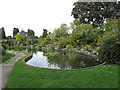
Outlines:
<svg viewBox="0 0 120 90"><path fill-rule="evenodd" d="M23 63L26 64L26 62L27 62L28 60L30 60L32 57L33 57L33 55L30 55L30 56L26 57L26 58L23 60ZM31 66L31 67L35 67L35 68L42 68L42 69L72 71L72 70L86 70L86 69L91 69L91 68L98 67L98 66L102 66L102 65L105 65L105 64L106 64L106 62L104 62L104 63L102 63L102 64L99 64L99 65L97 65L97 66L80 68L80 69L54 69L54 68L36 67L36 66L29 65L29 64L26 64L26 65Z"/></svg>

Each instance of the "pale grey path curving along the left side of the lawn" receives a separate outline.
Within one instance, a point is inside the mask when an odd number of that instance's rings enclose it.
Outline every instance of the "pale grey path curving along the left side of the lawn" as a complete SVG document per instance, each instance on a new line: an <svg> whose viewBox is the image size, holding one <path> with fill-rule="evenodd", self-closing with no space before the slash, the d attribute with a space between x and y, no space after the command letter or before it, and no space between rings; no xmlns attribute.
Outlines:
<svg viewBox="0 0 120 90"><path fill-rule="evenodd" d="M9 53L14 54L15 56L7 60L5 63L0 64L0 70L2 70L2 74L0 74L0 77L2 77L2 84L0 85L0 90L5 87L9 74L11 70L14 67L14 64L21 59L22 57L26 56L24 53L15 52L15 51L7 51ZM1 79L0 79L1 80ZM2 87L1 87L2 86Z"/></svg>

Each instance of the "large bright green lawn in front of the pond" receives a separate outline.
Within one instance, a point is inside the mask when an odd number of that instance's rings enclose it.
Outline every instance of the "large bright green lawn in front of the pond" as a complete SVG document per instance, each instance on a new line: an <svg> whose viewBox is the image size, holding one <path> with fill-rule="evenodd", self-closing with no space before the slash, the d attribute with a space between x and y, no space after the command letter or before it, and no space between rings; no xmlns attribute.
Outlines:
<svg viewBox="0 0 120 90"><path fill-rule="evenodd" d="M27 66L22 60L15 64L7 88L118 88L118 66L60 71Z"/></svg>

